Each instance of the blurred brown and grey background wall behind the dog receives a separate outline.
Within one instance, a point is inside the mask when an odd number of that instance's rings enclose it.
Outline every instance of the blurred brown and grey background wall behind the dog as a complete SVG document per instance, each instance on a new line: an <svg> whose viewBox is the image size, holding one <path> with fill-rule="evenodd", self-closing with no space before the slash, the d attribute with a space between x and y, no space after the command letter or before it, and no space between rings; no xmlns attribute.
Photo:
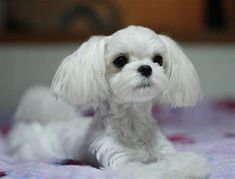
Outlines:
<svg viewBox="0 0 235 179"><path fill-rule="evenodd" d="M49 85L90 35L131 24L182 45L204 98L235 98L233 0L0 0L0 113L12 113L28 87Z"/></svg>

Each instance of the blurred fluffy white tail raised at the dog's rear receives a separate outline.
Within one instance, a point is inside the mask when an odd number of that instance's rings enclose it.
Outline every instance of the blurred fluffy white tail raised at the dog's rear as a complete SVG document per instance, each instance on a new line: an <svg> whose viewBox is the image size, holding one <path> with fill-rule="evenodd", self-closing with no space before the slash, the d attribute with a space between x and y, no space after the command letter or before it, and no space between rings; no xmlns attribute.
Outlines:
<svg viewBox="0 0 235 179"><path fill-rule="evenodd" d="M61 99L56 99L48 87L35 86L23 95L15 113L16 122L37 121L46 124L52 121L70 120L80 113Z"/></svg>

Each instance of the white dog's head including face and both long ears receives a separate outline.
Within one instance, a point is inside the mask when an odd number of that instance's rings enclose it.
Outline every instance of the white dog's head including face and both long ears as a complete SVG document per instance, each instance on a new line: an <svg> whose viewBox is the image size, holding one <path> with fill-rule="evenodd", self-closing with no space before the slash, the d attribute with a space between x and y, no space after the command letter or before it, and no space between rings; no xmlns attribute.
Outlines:
<svg viewBox="0 0 235 179"><path fill-rule="evenodd" d="M62 62L52 88L75 105L112 98L190 106L201 96L197 73L180 47L141 26L84 42Z"/></svg>

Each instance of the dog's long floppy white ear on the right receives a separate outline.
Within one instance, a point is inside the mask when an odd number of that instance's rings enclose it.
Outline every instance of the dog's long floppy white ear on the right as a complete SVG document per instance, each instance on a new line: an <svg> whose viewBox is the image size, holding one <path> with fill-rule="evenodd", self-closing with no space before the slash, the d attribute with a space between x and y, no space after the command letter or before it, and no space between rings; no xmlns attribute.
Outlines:
<svg viewBox="0 0 235 179"><path fill-rule="evenodd" d="M170 79L162 102L175 107L192 106L202 97L200 81L193 64L169 37L159 35L167 48L166 68Z"/></svg>

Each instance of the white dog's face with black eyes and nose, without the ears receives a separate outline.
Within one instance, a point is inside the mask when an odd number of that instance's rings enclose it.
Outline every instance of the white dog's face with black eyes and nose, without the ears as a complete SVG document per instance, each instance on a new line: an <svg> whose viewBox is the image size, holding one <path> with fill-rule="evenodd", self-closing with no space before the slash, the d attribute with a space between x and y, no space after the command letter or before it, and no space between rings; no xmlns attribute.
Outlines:
<svg viewBox="0 0 235 179"><path fill-rule="evenodd" d="M106 79L119 101L149 101L169 84L167 49L152 31L129 27L114 33L106 42Z"/></svg>

